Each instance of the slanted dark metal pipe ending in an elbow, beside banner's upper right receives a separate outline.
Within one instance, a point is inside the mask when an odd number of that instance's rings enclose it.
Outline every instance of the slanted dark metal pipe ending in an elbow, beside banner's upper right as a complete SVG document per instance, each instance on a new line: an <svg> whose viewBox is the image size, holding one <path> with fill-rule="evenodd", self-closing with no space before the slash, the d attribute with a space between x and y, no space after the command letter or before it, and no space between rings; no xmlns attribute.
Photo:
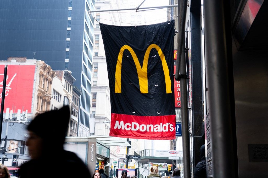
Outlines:
<svg viewBox="0 0 268 178"><path fill-rule="evenodd" d="M186 19L186 10L187 10L187 0L181 0L180 3L178 3L178 51L177 51L177 62L176 62L176 73L175 73L175 79L179 80L180 76L180 62L181 60L179 57L181 56L181 50L183 46L182 38L185 37L185 19Z"/></svg>

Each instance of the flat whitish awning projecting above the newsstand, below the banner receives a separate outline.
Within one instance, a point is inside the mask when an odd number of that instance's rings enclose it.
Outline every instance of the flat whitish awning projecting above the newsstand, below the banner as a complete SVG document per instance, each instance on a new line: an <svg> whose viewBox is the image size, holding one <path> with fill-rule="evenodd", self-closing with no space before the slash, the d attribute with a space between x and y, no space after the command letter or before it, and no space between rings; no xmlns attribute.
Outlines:
<svg viewBox="0 0 268 178"><path fill-rule="evenodd" d="M109 135L101 135L101 136L89 136L88 138L96 138L97 140L103 142L108 146L130 146L126 138L112 137Z"/></svg>

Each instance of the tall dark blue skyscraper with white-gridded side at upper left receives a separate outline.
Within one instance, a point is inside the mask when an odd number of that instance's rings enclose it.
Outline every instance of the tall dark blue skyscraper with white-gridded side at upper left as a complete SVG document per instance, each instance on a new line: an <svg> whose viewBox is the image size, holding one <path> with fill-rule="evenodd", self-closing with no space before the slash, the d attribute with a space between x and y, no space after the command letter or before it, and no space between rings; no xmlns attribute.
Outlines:
<svg viewBox="0 0 268 178"><path fill-rule="evenodd" d="M88 136L95 0L2 0L0 59L43 60L75 77L80 99L79 136Z"/></svg>

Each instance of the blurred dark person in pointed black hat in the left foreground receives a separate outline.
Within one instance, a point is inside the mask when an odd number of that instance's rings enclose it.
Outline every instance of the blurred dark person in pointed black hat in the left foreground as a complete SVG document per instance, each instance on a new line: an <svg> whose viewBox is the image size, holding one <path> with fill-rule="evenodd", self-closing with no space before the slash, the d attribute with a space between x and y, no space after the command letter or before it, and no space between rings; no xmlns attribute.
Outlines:
<svg viewBox="0 0 268 178"><path fill-rule="evenodd" d="M69 106L39 114L32 120L26 142L32 159L21 165L20 178L91 177L84 162L63 149L69 120Z"/></svg>

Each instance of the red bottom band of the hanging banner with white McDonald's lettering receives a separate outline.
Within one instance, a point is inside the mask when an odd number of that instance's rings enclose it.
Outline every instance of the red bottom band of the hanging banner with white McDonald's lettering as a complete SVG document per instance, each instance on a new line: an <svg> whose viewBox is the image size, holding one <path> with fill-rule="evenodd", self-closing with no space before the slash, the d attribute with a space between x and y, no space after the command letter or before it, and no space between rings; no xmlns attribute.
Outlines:
<svg viewBox="0 0 268 178"><path fill-rule="evenodd" d="M109 136L149 139L175 139L176 115L137 116L111 113Z"/></svg>

